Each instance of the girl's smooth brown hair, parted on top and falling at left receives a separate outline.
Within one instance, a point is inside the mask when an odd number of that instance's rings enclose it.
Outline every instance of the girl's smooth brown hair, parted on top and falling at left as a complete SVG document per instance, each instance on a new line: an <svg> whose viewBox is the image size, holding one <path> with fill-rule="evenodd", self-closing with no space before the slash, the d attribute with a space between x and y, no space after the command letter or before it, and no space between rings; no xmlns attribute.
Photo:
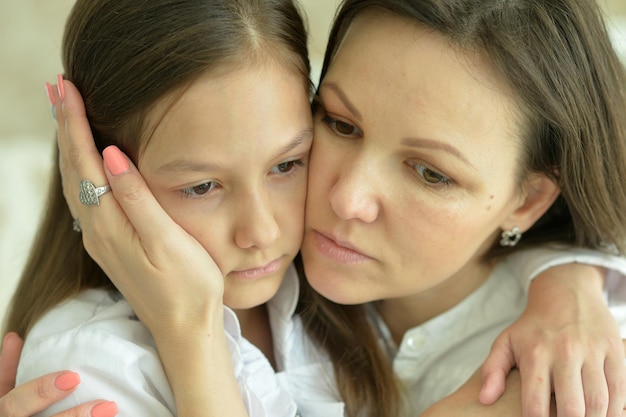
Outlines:
<svg viewBox="0 0 626 417"><path fill-rule="evenodd" d="M137 163L159 100L207 72L274 60L311 91L307 35L292 0L78 0L63 39L65 78L81 92L97 148L115 144ZM72 230L58 152L45 217L8 311L22 337L51 307L111 282ZM100 185L100 184L96 184Z"/></svg>

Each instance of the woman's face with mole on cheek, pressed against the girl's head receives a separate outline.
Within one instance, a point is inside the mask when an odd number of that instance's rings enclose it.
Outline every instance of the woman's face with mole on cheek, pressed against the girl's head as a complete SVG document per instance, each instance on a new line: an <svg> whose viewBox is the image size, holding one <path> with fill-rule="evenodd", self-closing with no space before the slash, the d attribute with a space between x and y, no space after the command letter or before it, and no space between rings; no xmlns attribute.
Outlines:
<svg viewBox="0 0 626 417"><path fill-rule="evenodd" d="M352 24L320 102L302 248L313 287L354 304L480 285L479 256L523 202L506 84L480 55L377 11Z"/></svg>

